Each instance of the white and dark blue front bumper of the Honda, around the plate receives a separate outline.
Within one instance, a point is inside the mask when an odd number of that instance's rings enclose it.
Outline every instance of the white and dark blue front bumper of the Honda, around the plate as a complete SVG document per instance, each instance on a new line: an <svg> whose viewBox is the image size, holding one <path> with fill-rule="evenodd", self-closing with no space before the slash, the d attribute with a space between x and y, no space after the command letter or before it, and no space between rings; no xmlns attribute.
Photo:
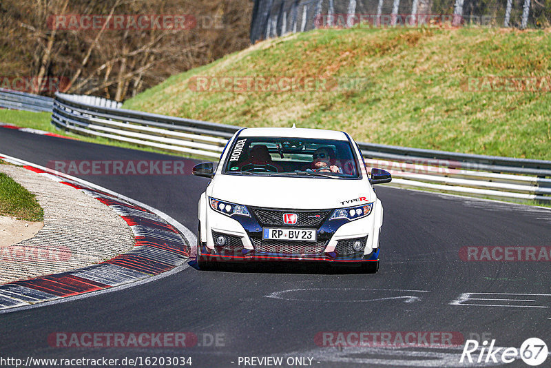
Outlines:
<svg viewBox="0 0 551 368"><path fill-rule="evenodd" d="M325 218L316 228L318 241L264 241L257 216L225 216L208 208L198 249L202 260L221 262L297 260L302 262L365 263L379 259L378 228L373 214L356 221ZM311 227L313 228L313 227ZM217 245L215 238L225 236L227 242ZM375 240L376 238L376 240ZM361 251L353 250L353 241L362 241Z"/></svg>

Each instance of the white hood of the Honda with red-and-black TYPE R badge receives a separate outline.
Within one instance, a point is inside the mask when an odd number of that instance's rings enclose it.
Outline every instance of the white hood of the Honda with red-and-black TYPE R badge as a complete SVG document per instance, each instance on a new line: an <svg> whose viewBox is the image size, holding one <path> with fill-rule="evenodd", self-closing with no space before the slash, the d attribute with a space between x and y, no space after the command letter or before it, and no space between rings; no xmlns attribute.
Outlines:
<svg viewBox="0 0 551 368"><path fill-rule="evenodd" d="M217 174L207 195L242 205L284 209L351 207L375 201L365 180Z"/></svg>

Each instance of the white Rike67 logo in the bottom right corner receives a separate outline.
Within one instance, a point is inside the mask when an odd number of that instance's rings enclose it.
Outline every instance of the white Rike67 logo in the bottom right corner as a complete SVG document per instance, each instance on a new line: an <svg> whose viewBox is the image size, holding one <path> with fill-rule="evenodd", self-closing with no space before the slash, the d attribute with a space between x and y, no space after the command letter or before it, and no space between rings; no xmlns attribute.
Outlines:
<svg viewBox="0 0 551 368"><path fill-rule="evenodd" d="M480 350L480 351L479 351ZM547 345L539 338L528 338L522 343L521 348L516 347L495 347L495 339L488 345L485 340L481 346L477 340L467 340L460 363L510 363L520 358L527 365L537 366L545 362L548 356Z"/></svg>

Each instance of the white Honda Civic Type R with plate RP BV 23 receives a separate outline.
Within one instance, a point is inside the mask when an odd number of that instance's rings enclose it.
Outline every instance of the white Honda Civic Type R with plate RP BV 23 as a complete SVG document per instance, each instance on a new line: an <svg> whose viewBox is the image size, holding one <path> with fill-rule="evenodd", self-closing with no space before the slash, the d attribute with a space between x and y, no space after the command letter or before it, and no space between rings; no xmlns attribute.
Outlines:
<svg viewBox="0 0 551 368"><path fill-rule="evenodd" d="M260 127L229 140L199 200L197 263L300 260L379 268L383 207L349 134Z"/></svg>

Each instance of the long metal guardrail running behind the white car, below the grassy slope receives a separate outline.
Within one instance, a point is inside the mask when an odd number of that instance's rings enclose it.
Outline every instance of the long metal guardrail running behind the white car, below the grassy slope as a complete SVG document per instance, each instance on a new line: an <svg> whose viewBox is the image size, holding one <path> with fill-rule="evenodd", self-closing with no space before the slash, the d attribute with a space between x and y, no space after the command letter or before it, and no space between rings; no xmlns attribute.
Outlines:
<svg viewBox="0 0 551 368"><path fill-rule="evenodd" d="M240 129L235 125L125 110L109 101L56 93L52 124L77 134L103 136L211 160L220 157L227 140ZM393 174L391 186L551 203L551 161L373 143L358 145L368 168L380 167Z"/></svg>

